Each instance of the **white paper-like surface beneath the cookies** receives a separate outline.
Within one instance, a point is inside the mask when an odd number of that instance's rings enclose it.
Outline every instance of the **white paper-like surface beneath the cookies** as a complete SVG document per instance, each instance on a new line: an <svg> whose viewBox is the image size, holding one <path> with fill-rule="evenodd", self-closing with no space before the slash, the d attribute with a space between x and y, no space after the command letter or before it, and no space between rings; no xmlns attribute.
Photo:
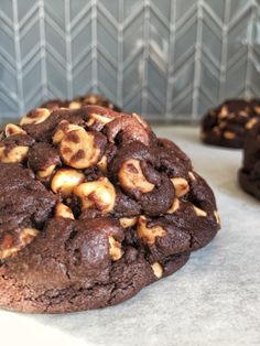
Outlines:
<svg viewBox="0 0 260 346"><path fill-rule="evenodd" d="M237 184L241 152L202 145L198 129L158 127L213 187L223 228L175 274L99 311L0 311L1 345L260 345L260 202Z"/></svg>

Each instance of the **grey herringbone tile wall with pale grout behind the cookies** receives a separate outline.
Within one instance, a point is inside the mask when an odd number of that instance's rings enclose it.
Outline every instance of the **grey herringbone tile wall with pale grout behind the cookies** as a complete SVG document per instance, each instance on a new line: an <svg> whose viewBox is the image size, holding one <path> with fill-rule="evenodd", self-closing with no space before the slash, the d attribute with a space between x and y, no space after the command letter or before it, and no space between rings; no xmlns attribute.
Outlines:
<svg viewBox="0 0 260 346"><path fill-rule="evenodd" d="M0 0L0 120L87 90L156 121L260 96L260 0Z"/></svg>

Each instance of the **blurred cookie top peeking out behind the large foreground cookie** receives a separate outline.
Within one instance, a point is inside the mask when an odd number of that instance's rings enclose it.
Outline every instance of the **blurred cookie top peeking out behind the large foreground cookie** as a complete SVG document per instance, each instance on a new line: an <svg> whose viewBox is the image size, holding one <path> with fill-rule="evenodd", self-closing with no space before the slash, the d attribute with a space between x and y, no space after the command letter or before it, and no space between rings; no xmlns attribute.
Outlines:
<svg viewBox="0 0 260 346"><path fill-rule="evenodd" d="M48 109L57 109L57 108L69 108L69 109L78 109L83 106L88 105L96 105L96 106L102 106L116 111L121 111L121 109L113 105L109 99L101 95L95 95L95 94L86 94L84 96L78 96L74 98L73 100L66 100L66 99L52 99L44 104L42 104L41 108L48 108Z"/></svg>

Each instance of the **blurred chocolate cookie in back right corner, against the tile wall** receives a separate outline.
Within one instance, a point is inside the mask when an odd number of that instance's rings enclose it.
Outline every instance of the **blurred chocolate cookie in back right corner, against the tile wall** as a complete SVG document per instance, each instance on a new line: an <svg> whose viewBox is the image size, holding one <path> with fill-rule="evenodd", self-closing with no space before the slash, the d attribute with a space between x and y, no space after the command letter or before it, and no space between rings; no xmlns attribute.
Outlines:
<svg viewBox="0 0 260 346"><path fill-rule="evenodd" d="M246 125L260 117L260 99L230 99L210 109L202 120L202 141L218 147L242 148Z"/></svg>

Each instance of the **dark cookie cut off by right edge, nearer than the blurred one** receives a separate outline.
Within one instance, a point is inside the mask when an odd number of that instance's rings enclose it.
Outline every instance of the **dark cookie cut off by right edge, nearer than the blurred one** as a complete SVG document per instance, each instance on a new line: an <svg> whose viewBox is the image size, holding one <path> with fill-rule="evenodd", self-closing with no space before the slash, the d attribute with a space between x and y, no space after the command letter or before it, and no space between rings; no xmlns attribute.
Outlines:
<svg viewBox="0 0 260 346"><path fill-rule="evenodd" d="M260 199L260 118L247 123L243 144L243 162L239 173L240 186L250 195Z"/></svg>

